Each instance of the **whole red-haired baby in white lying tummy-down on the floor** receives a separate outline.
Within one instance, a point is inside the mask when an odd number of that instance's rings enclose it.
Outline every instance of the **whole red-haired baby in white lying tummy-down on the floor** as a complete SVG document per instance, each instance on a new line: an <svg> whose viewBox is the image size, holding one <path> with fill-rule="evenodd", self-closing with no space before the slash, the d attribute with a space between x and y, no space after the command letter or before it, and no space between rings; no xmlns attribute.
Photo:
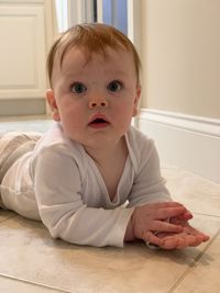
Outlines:
<svg viewBox="0 0 220 293"><path fill-rule="evenodd" d="M131 126L141 86L129 38L105 24L76 25L53 44L47 69L55 123L41 137L1 136L1 206L72 244L142 239L176 249L207 241L172 201L153 140Z"/></svg>

